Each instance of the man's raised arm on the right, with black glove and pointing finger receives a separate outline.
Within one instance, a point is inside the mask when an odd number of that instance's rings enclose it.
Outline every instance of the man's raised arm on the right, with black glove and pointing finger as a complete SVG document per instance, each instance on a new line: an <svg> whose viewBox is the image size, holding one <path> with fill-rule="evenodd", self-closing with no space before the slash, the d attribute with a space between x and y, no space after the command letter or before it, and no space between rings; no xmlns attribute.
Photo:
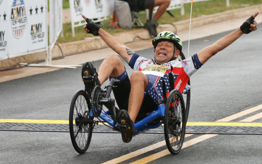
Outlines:
<svg viewBox="0 0 262 164"><path fill-rule="evenodd" d="M236 29L235 31L231 32L230 34L224 36L223 38L217 40L212 45L205 47L204 49L198 52L198 59L199 61L204 64L210 57L218 53L219 51L225 49L235 40L237 40L241 35L244 33L250 33L251 31L257 30L257 22L254 21L255 17L259 13L253 15L246 20L246 22L241 25L240 28Z"/></svg>

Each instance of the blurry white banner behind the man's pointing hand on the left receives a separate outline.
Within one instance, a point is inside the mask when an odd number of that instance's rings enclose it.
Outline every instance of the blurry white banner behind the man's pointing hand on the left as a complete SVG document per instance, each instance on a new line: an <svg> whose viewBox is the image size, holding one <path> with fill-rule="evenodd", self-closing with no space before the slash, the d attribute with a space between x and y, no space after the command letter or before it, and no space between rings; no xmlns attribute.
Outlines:
<svg viewBox="0 0 262 164"><path fill-rule="evenodd" d="M114 10L114 0L69 0L69 4L73 37L74 28L86 24L82 14L94 22L101 22L111 18Z"/></svg>

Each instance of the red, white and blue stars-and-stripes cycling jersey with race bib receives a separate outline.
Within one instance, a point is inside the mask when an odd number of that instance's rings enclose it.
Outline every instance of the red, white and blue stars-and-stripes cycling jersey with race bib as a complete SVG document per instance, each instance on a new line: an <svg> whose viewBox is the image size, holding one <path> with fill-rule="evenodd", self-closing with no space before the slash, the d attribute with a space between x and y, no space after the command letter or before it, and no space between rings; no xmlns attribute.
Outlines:
<svg viewBox="0 0 262 164"><path fill-rule="evenodd" d="M169 95L169 78L168 73L173 67L174 76L174 88L181 93L185 89L189 77L195 73L202 64L198 59L198 55L195 54L184 60L171 60L161 65L157 64L154 59L147 59L136 53L132 56L129 66L134 69L143 72L147 78L153 83L158 93L163 97L162 81L166 84L167 97Z"/></svg>

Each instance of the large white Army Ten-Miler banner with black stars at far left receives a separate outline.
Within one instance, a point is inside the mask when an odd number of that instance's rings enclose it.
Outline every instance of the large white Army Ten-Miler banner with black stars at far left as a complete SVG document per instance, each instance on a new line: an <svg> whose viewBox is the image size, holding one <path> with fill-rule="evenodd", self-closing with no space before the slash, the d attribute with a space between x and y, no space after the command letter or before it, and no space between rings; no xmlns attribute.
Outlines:
<svg viewBox="0 0 262 164"><path fill-rule="evenodd" d="M0 0L0 60L47 51L47 1Z"/></svg>

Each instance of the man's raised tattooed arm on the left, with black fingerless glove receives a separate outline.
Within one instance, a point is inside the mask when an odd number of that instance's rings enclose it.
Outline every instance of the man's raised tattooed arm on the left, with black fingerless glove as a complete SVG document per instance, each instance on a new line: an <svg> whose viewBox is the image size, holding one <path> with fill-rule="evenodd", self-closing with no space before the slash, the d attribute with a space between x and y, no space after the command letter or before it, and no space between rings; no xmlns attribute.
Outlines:
<svg viewBox="0 0 262 164"><path fill-rule="evenodd" d="M127 63L129 63L132 58L134 51L130 48L126 47L126 45L121 42L119 39L113 37L105 30L96 25L92 20L86 18L86 16L82 15L82 17L86 20L87 24L84 25L84 29L86 33L92 33L93 35L98 35L100 38L116 53L118 53Z"/></svg>

